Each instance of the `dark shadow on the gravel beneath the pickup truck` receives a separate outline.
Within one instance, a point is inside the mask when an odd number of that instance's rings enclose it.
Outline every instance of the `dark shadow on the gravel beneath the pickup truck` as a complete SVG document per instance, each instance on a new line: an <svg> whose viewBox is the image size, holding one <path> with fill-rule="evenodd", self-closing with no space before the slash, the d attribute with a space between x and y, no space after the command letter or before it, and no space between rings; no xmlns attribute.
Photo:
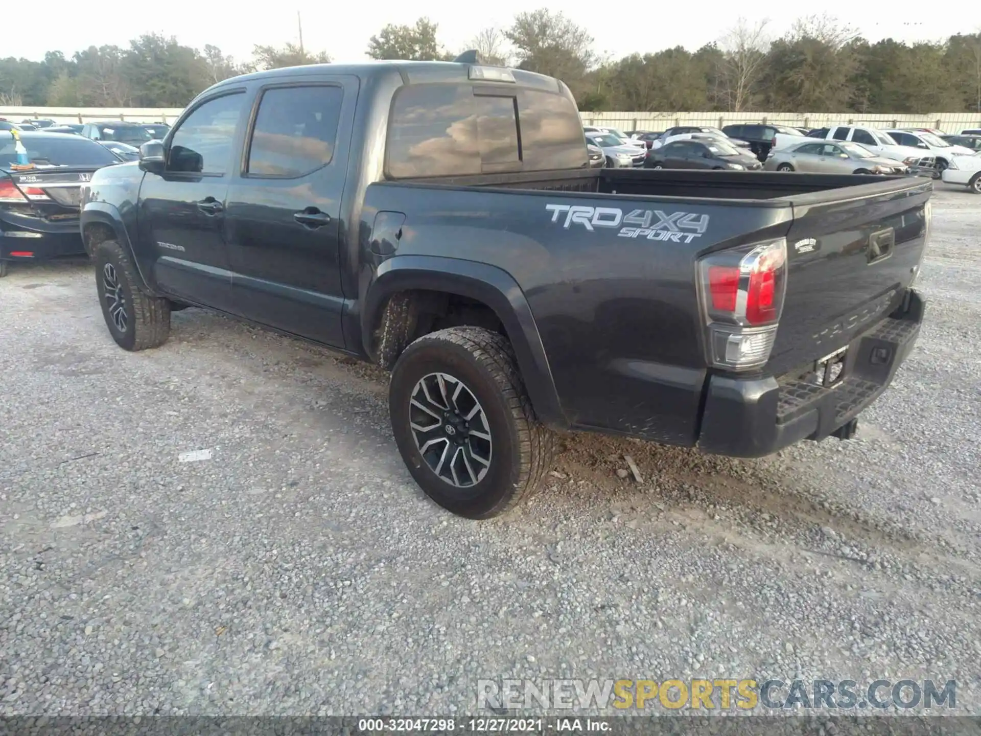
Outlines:
<svg viewBox="0 0 981 736"><path fill-rule="evenodd" d="M332 462L352 467L371 463L376 474L429 502L404 469L391 437L387 372L319 345L196 309L175 314L174 321L172 342L163 349L201 349L212 359L222 355L233 360L278 400L289 394L291 423L314 437L336 438ZM344 434L338 434L338 427ZM629 472L627 455L637 464L641 483ZM621 478L625 472L627 477ZM635 526L652 532L683 526L692 534L722 535L753 548L770 539L781 551L788 545L824 550L852 556L863 565L876 559L863 550L904 556L928 552L937 560L929 541L916 532L891 519L871 518L860 505L832 500L813 478L813 472L803 472L800 463L781 454L740 460L636 439L562 433L552 468L528 507L488 523L539 529L554 521L556 513L565 520L591 522L633 515Z"/></svg>

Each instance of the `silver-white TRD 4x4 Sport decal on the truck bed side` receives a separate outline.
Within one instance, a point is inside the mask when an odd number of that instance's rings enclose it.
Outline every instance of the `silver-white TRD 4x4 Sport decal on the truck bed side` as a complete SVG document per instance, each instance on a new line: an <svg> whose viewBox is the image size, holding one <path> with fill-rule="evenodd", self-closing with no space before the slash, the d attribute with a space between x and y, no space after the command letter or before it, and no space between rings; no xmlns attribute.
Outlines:
<svg viewBox="0 0 981 736"><path fill-rule="evenodd" d="M588 207L579 204L546 204L553 223L568 230L580 225L589 231L596 228L619 228L618 237L645 237L648 240L692 242L708 230L708 215L695 212L662 212L631 210L626 215L618 207ZM631 227L623 227L623 226Z"/></svg>

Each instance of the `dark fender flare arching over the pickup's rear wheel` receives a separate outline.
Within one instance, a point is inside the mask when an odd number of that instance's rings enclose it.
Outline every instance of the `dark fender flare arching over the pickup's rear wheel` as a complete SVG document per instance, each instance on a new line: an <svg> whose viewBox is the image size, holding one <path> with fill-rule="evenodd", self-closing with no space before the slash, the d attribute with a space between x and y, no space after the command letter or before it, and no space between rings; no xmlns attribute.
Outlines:
<svg viewBox="0 0 981 736"><path fill-rule="evenodd" d="M458 258L428 255L388 258L369 285L361 310L362 344L369 352L374 326L381 320L388 299L392 294L410 289L442 291L487 304L503 324L514 347L522 380L539 420L556 429L569 426L531 306L509 273L496 266Z"/></svg>

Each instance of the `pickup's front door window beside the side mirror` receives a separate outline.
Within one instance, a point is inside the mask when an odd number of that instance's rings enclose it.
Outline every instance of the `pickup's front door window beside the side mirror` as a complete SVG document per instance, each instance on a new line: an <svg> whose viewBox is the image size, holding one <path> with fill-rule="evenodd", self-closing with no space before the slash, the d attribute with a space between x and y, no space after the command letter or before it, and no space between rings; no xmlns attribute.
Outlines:
<svg viewBox="0 0 981 736"><path fill-rule="evenodd" d="M240 92L214 97L184 118L171 137L167 171L225 174L244 99Z"/></svg>

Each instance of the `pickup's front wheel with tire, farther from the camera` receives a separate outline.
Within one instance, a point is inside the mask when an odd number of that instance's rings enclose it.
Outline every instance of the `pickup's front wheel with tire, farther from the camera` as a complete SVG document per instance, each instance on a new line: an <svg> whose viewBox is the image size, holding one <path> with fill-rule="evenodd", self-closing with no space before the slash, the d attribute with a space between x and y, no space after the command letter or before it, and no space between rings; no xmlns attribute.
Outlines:
<svg viewBox="0 0 981 736"><path fill-rule="evenodd" d="M116 240L95 248L95 290L109 334L124 350L159 347L171 333L171 302L139 290L129 256Z"/></svg>

